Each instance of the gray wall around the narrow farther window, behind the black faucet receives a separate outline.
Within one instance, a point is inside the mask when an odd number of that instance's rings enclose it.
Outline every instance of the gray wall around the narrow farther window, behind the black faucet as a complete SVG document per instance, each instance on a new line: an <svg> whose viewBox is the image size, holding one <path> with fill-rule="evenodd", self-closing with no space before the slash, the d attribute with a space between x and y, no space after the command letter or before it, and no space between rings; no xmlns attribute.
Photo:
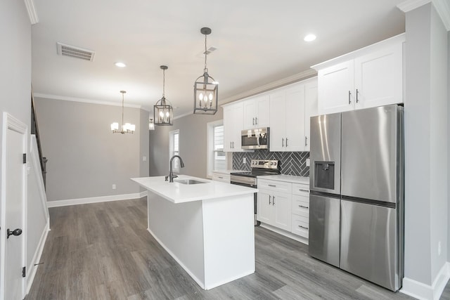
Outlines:
<svg viewBox="0 0 450 300"><path fill-rule="evenodd" d="M180 174L206 178L207 123L223 118L220 107L216 115L188 115L174 120L173 126L155 126L150 131L150 176L169 174L169 131L179 129L180 156L185 167Z"/></svg>

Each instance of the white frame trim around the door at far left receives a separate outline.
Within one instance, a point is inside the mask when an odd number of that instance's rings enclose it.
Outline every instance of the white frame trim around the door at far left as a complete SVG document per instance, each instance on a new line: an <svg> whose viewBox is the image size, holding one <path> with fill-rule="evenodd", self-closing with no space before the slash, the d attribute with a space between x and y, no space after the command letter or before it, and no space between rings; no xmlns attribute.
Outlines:
<svg viewBox="0 0 450 300"><path fill-rule="evenodd" d="M0 207L0 300L4 300L5 294L5 261L6 261L6 134L8 130L12 130L22 134L23 138L23 153L27 153L27 163L23 164L23 251L22 251L22 266L26 266L27 257L27 164L28 164L28 126L27 124L8 114L3 113L2 124L2 138L1 138L1 207ZM22 298L25 297L25 282L26 277L22 281Z"/></svg>

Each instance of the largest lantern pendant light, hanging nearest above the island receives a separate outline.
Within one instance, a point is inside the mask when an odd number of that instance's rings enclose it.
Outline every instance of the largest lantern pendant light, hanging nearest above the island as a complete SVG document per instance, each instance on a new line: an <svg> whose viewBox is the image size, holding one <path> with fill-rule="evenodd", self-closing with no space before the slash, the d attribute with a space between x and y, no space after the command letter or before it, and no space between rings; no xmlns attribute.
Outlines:
<svg viewBox="0 0 450 300"><path fill-rule="evenodd" d="M206 65L206 37L211 33L211 29L203 27L200 32L205 34L205 69L203 75L195 79L194 83L194 114L214 115L217 112L219 84L208 74Z"/></svg>

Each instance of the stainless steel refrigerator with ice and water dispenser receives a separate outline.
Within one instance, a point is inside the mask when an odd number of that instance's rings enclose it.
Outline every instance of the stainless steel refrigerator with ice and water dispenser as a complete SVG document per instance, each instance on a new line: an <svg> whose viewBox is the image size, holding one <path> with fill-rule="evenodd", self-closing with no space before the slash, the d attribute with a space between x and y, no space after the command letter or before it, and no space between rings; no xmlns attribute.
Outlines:
<svg viewBox="0 0 450 300"><path fill-rule="evenodd" d="M404 261L404 110L311 117L309 254L397 291Z"/></svg>

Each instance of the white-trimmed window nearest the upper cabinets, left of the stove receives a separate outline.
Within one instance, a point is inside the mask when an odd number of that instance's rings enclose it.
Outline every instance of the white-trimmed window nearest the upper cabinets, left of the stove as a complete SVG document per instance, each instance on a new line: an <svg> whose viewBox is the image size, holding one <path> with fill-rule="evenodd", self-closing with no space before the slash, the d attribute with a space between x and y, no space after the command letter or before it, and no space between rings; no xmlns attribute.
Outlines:
<svg viewBox="0 0 450 300"><path fill-rule="evenodd" d="M210 122L207 124L207 175L213 171L226 170L226 152L224 152L224 122Z"/></svg>

